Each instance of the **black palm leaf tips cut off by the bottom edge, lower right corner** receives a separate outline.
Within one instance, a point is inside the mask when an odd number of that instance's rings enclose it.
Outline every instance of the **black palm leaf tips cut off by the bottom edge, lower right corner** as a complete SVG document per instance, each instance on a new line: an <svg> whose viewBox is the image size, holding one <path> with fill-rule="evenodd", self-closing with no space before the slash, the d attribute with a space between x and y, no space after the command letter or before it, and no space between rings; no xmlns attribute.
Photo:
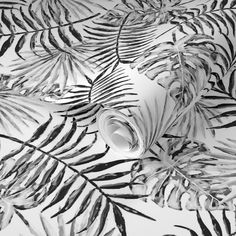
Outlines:
<svg viewBox="0 0 236 236"><path fill-rule="evenodd" d="M198 236L198 235L199 236L200 235L202 235L202 236L214 236L214 235L216 235L216 236L223 236L223 235L230 236L230 235L234 235L232 233L232 227L234 226L234 223L230 222L229 218L226 215L225 210L222 211L222 219L223 219L224 226L221 226L219 221L216 219L216 217L210 211L208 212L210 219L211 219L213 229L214 229L214 234L211 232L209 226L207 226L204 223L204 218L201 217L200 213L198 211L196 211L196 214L197 214L198 225L201 228L201 234L198 234L195 230L193 230L189 227L186 227L186 226L175 225L175 227L189 231L191 236ZM163 235L163 236L167 236L167 235ZM173 234L173 236L174 236L174 234Z"/></svg>

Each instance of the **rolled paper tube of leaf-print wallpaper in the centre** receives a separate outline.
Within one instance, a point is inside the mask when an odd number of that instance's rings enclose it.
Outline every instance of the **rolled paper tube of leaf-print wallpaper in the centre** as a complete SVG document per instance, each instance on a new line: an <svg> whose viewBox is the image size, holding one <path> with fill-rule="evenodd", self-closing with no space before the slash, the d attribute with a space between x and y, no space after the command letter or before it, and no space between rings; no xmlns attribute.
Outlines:
<svg viewBox="0 0 236 236"><path fill-rule="evenodd" d="M125 157L141 157L175 120L176 102L161 85L132 72L129 77L137 93L136 106L122 110L104 106L97 114L97 125L113 151Z"/></svg>

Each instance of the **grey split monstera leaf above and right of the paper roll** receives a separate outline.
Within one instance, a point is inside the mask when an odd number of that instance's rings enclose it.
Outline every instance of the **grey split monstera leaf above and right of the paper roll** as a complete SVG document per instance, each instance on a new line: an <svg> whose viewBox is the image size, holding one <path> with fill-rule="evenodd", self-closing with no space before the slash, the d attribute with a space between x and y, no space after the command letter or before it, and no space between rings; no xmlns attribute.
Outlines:
<svg viewBox="0 0 236 236"><path fill-rule="evenodd" d="M188 35L156 43L137 58L131 67L170 91L180 107L189 105L207 86L213 50L205 43L207 35Z"/></svg>

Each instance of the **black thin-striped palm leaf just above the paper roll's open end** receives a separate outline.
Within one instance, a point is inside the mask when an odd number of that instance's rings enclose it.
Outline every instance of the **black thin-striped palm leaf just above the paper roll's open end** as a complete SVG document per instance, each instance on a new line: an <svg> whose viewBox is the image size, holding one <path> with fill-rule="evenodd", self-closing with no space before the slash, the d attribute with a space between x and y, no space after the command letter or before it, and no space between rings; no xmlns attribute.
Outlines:
<svg viewBox="0 0 236 236"><path fill-rule="evenodd" d="M57 101L57 104L69 107L59 111L60 115L75 117L77 122L90 118L92 122L101 106L118 110L137 106L133 83L122 67L111 73L105 71L88 82L88 85L72 87Z"/></svg>

